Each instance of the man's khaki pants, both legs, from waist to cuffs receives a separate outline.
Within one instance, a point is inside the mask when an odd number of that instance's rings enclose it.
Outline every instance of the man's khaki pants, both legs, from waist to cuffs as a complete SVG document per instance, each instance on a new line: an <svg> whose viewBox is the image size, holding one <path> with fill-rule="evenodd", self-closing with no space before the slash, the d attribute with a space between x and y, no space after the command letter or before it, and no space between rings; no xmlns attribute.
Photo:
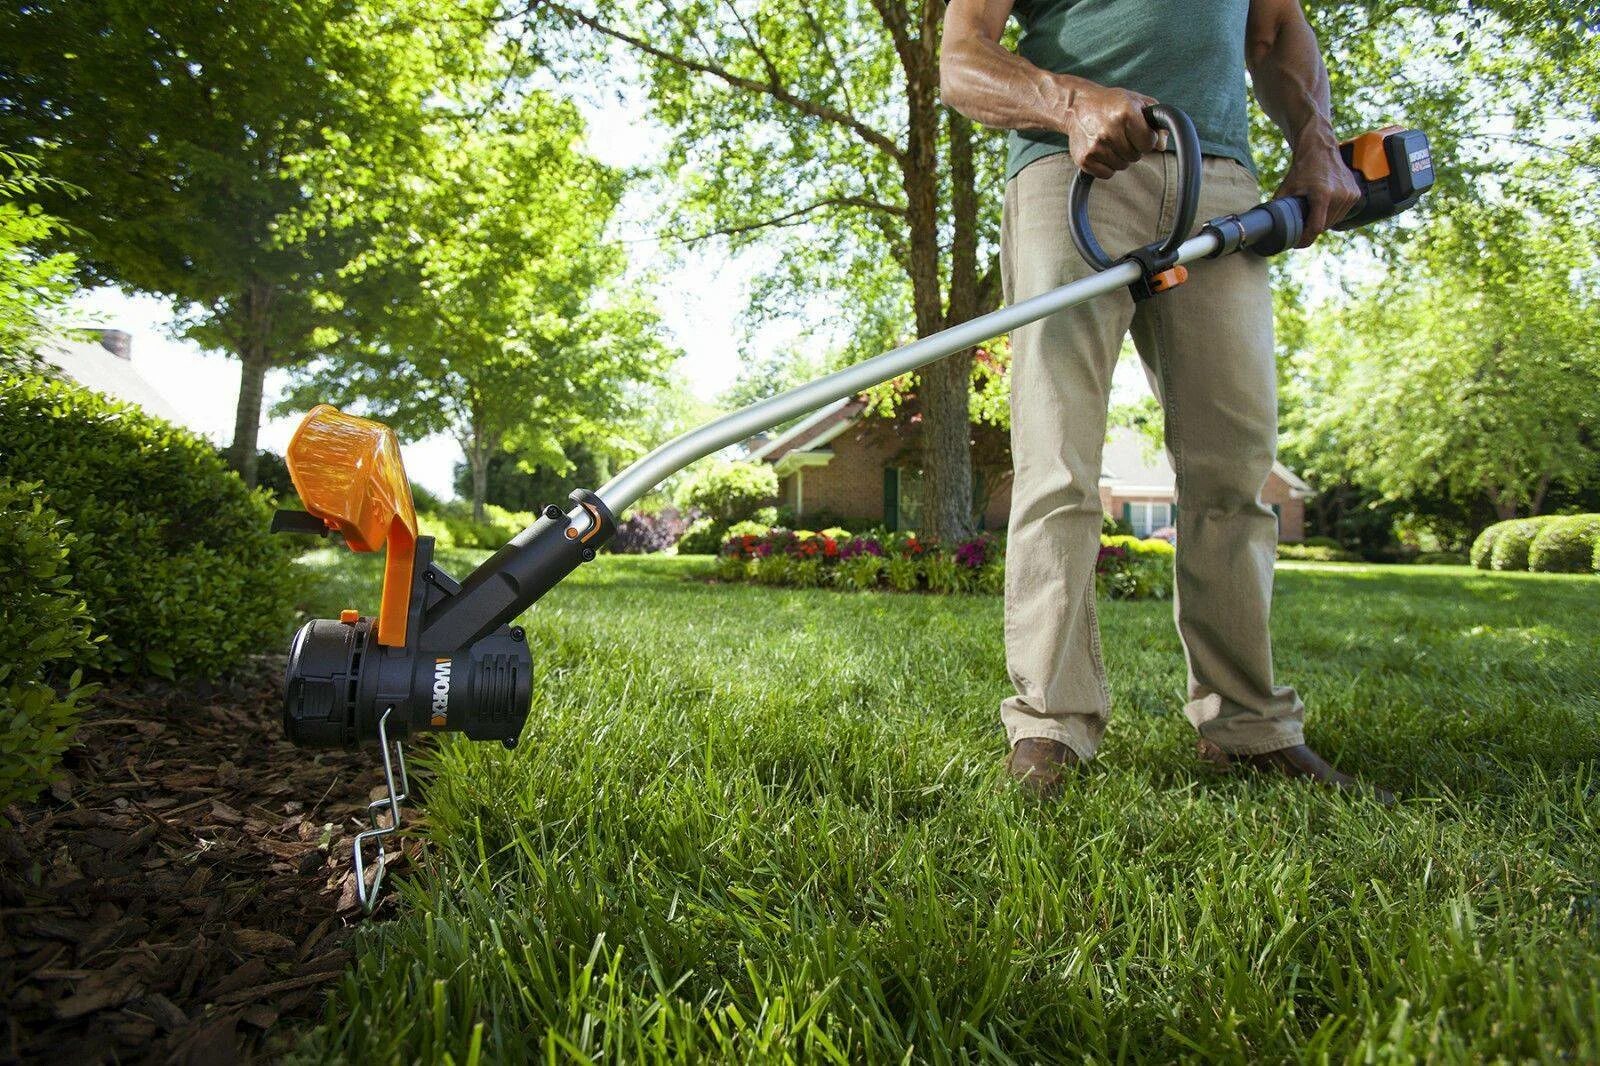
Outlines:
<svg viewBox="0 0 1600 1066"><path fill-rule="evenodd" d="M1006 184L1000 266L1008 303L1091 274L1067 235L1066 154ZM1090 221L1112 256L1166 232L1176 162L1147 155L1094 182ZM1206 157L1198 221L1261 198L1234 160ZM1267 264L1248 253L1189 266L1189 282L1134 304L1126 290L1022 327L1011 336L1011 528L1006 546L1006 669L1000 704L1011 744L1046 736L1090 759L1109 696L1094 618L1101 450L1112 368L1133 331L1165 408L1178 475L1174 613L1189 664L1184 707L1224 751L1302 741L1304 707L1272 683L1272 560L1277 519L1261 490L1277 450L1277 376Z"/></svg>

